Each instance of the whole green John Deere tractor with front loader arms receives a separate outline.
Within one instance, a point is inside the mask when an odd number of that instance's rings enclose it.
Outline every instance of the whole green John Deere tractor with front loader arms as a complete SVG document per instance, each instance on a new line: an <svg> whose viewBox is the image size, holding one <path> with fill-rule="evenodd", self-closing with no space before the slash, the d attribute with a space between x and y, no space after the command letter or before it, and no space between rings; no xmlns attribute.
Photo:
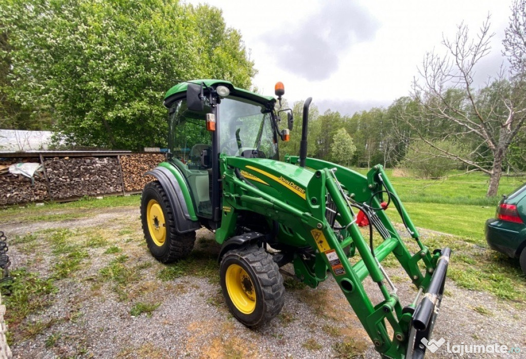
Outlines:
<svg viewBox="0 0 526 359"><path fill-rule="evenodd" d="M280 161L278 143L294 127L292 110L281 108L284 93L281 83L276 98L214 79L180 81L168 90L167 160L147 172L155 180L141 197L151 254L175 262L192 250L196 230L214 232L222 294L248 327L270 321L284 305L281 266L291 263L297 280L311 288L332 275L383 357L423 357L450 249L431 252L422 243L382 166L363 176L307 157L311 98L303 107L299 156ZM406 241L416 242L415 253L389 220L389 207L410 234ZM358 213L368 230L358 227ZM381 264L391 253L418 290L405 306ZM366 278L377 293L366 292Z"/></svg>

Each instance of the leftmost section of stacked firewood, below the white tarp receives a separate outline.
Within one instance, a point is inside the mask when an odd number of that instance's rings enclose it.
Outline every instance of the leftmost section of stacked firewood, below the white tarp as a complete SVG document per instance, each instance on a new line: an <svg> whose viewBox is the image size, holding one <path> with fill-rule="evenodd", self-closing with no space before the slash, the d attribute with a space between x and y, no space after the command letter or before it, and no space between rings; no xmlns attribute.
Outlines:
<svg viewBox="0 0 526 359"><path fill-rule="evenodd" d="M37 158L9 159L0 161L0 205L43 201L49 199L46 180L42 171L33 178L13 175L9 166L18 162L40 162Z"/></svg>

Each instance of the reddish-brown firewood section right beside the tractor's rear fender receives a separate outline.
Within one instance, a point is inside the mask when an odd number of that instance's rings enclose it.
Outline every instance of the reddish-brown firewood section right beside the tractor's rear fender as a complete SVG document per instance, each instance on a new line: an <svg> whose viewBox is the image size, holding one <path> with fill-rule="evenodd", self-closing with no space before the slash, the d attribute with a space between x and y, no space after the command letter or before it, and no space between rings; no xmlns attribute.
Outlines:
<svg viewBox="0 0 526 359"><path fill-rule="evenodd" d="M154 169L160 162L166 160L161 153L141 153L140 155L120 156L120 166L123 170L124 190L140 191L146 183L154 181L152 176L143 176Z"/></svg>

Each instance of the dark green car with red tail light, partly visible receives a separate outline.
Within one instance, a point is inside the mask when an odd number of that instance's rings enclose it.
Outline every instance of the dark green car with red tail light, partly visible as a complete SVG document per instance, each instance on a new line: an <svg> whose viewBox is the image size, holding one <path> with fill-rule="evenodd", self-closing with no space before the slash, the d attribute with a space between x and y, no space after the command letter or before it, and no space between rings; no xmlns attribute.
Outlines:
<svg viewBox="0 0 526 359"><path fill-rule="evenodd" d="M485 237L491 249L519 258L526 274L526 183L503 196L495 217L485 223Z"/></svg>

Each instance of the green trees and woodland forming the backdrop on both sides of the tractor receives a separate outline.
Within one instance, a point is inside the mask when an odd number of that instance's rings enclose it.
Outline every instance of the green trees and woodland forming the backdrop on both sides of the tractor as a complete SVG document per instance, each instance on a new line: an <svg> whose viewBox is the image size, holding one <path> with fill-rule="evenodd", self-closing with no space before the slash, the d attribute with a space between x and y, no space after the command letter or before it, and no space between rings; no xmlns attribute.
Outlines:
<svg viewBox="0 0 526 359"><path fill-rule="evenodd" d="M311 108L309 156L353 167L403 167L424 178L482 171L488 196L526 170L526 0L516 0L503 67L473 77L491 50L490 15L460 24L423 54L408 96L353 115ZM443 50L443 51L442 51ZM0 128L53 130L69 148L166 147L160 99L176 79L221 78L256 90L241 33L220 9L176 0L5 0L0 8ZM299 151L301 105L291 141ZM285 125L282 125L285 127Z"/></svg>

